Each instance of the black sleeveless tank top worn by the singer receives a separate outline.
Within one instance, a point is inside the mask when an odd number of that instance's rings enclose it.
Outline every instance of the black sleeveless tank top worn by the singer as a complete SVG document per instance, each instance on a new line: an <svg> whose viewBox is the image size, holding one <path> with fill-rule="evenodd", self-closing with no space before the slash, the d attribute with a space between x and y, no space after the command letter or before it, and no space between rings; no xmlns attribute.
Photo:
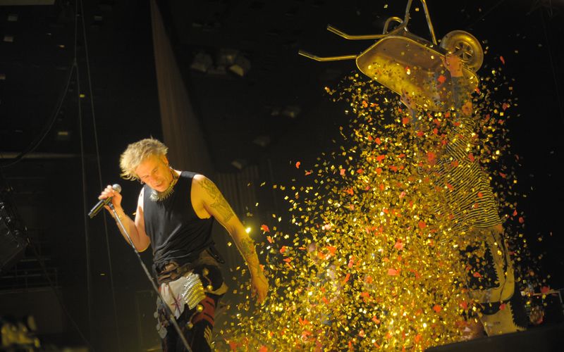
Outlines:
<svg viewBox="0 0 564 352"><path fill-rule="evenodd" d="M213 244L214 218L200 219L192 207L190 190L195 172L183 171L174 192L163 201L152 201L152 189L143 188L145 232L151 239L154 268L175 261L178 265L196 260L198 254Z"/></svg>

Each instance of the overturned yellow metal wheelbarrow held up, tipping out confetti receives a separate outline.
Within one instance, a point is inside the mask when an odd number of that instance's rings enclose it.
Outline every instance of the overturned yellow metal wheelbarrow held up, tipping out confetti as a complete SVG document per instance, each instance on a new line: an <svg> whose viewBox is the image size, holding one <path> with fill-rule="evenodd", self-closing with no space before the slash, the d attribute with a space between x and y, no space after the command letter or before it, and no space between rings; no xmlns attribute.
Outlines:
<svg viewBox="0 0 564 352"><path fill-rule="evenodd" d="M345 39L379 39L358 55L320 57L302 50L298 54L317 61L355 59L359 70L372 80L397 94L407 92L417 105L427 110L444 111L453 106L450 75L443 64L444 56L450 52L462 59L466 78L463 87L470 93L478 85L475 72L482 66L484 51L478 39L462 30L449 32L441 39L441 44L437 44L427 4L425 0L421 2L431 32L431 42L407 30L412 4L412 0L407 0L403 20L395 16L388 18L382 34L350 35L331 25L327 26L327 30ZM388 32L391 22L399 24Z"/></svg>

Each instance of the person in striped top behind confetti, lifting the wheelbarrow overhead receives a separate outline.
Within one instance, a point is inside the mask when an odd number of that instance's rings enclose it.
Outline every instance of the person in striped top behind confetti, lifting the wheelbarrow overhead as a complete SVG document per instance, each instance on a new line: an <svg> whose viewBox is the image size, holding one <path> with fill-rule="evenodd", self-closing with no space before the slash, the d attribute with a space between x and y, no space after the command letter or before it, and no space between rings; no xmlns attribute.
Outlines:
<svg viewBox="0 0 564 352"><path fill-rule="evenodd" d="M437 213L446 215L458 237L466 260L469 296L479 303L480 317L468 319L467 338L505 334L524 330L527 313L513 271L513 263L503 239L503 222L489 177L473 158L472 146L477 142L474 132L477 121L473 116L470 94L464 94L465 78L458 56L447 54L444 65L450 73L454 111L452 128L446 133L446 144L436 153L436 162L429 167L437 189L441 190L441 204ZM401 101L410 108L411 126L423 128L417 116L417 106L408 92ZM474 324L472 324L474 322ZM483 330L482 330L483 327Z"/></svg>

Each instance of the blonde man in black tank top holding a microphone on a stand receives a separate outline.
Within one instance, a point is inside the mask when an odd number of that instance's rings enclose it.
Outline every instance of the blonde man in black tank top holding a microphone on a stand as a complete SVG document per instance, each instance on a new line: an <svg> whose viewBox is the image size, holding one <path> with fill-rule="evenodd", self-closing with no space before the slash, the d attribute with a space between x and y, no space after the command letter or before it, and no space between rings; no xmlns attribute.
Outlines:
<svg viewBox="0 0 564 352"><path fill-rule="evenodd" d="M152 247L153 271L165 301L159 299L157 303L157 329L163 351L184 351L164 304L177 318L192 351L211 351L215 308L227 291L219 270L223 260L212 241L214 220L226 228L245 258L251 273L252 295L257 296L259 303L266 298L269 284L254 242L221 191L204 175L171 168L167 150L163 143L149 138L130 144L121 154L121 176L144 184L135 219L125 214L122 196L111 186L102 191L99 199L111 198L137 251ZM104 207L110 210L109 206ZM111 211L110 214L114 216Z"/></svg>

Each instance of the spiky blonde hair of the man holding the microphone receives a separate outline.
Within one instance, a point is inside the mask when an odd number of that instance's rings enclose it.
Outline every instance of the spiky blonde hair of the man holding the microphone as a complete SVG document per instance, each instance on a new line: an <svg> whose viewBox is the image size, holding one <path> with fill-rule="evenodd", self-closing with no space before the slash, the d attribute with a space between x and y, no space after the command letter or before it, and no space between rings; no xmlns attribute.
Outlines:
<svg viewBox="0 0 564 352"><path fill-rule="evenodd" d="M158 139L146 138L128 145L119 158L121 177L125 180L139 180L135 169L150 156L166 156L168 147Z"/></svg>

